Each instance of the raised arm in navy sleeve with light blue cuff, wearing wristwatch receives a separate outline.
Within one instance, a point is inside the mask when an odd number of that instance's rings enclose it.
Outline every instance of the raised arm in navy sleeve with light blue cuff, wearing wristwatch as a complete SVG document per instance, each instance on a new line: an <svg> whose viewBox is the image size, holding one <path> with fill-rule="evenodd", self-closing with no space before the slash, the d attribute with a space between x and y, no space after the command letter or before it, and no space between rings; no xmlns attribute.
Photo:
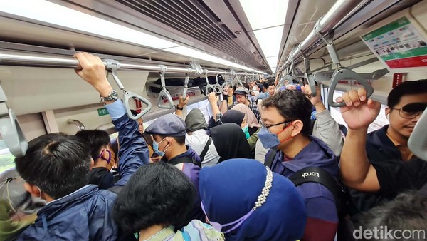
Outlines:
<svg viewBox="0 0 427 241"><path fill-rule="evenodd" d="M105 77L105 66L101 59L90 53L76 53L81 69L75 71L86 82L90 83L101 96L112 93L112 87ZM115 185L125 185L130 176L144 163L149 163L147 143L138 131L138 123L131 120L120 99L105 101L105 108L110 113L112 123L119 132L120 180Z"/></svg>

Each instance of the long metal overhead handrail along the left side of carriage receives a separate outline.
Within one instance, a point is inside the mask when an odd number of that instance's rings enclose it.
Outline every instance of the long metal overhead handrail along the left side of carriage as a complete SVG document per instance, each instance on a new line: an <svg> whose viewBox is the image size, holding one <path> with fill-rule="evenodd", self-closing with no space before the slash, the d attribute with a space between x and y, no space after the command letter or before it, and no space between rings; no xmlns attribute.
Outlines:
<svg viewBox="0 0 427 241"><path fill-rule="evenodd" d="M106 65L106 63L104 63ZM78 60L73 57L52 57L52 56L28 56L23 54L9 54L0 51L0 66L28 66L28 67L53 67L53 68L80 68ZM142 63L120 62L120 69L140 70L140 71L162 71L159 65L149 65ZM167 66L168 73L190 73L197 74L192 68ZM229 75L228 71L217 71L205 69L204 73ZM202 74L202 73L199 73ZM246 73L234 72L236 75L246 75ZM259 73L249 73L252 76L258 76Z"/></svg>

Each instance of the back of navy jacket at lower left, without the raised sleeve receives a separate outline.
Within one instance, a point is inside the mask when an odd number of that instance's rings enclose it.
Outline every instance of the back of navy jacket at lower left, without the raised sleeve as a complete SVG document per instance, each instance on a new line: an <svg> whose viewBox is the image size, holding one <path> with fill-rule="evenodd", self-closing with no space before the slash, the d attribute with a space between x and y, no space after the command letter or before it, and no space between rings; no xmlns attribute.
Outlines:
<svg viewBox="0 0 427 241"><path fill-rule="evenodd" d="M38 210L36 222L17 240L116 240L111 212L115 197L86 185Z"/></svg>

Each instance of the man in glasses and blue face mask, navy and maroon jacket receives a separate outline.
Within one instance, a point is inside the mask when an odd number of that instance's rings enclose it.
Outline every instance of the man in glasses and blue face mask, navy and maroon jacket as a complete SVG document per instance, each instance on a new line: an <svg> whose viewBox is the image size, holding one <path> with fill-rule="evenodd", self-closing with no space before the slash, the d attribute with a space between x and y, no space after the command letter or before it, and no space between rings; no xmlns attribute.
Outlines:
<svg viewBox="0 0 427 241"><path fill-rule="evenodd" d="M258 133L264 148L275 151L273 163L265 165L286 178L306 167L320 167L334 178L338 162L330 148L310 133L312 103L300 91L284 90L262 103ZM269 155L269 154L268 154ZM338 214L334 195L319 183L298 185L307 206L307 225L301 240L334 240Z"/></svg>

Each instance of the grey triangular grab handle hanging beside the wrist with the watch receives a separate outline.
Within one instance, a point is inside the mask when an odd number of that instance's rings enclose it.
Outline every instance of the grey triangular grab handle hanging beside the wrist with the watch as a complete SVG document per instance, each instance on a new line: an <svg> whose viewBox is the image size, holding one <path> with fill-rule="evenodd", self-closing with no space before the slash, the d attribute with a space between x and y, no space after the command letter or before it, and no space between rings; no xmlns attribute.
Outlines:
<svg viewBox="0 0 427 241"><path fill-rule="evenodd" d="M149 102L146 98L139 96L137 93L133 93L131 91L125 91L125 86L122 85L122 82L120 81L119 77L117 76L117 70L120 69L120 63L119 61L115 61L114 59L102 59L102 62L105 65L105 70L107 70L107 76L110 74L112 78L114 79L115 83L117 83L117 86L119 86L120 90L123 91L123 102L125 102L126 107L126 113L127 116L129 116L132 120L137 120L144 116L149 110L152 108L151 102ZM147 105L147 108L144 109L144 111L141 111L136 116L132 114L132 109L129 106L129 100L135 99L138 101L141 101L145 105Z"/></svg>

